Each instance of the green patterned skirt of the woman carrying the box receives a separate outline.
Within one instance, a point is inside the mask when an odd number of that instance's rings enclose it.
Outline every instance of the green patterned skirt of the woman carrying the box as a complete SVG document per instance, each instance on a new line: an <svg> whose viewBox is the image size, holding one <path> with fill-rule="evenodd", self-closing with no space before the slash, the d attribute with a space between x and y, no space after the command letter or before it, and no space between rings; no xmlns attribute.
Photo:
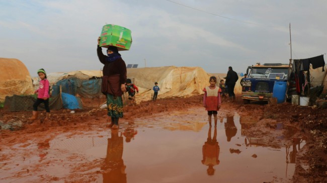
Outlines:
<svg viewBox="0 0 327 183"><path fill-rule="evenodd" d="M122 97L116 97L111 94L107 94L107 110L108 116L117 118L124 117Z"/></svg>

